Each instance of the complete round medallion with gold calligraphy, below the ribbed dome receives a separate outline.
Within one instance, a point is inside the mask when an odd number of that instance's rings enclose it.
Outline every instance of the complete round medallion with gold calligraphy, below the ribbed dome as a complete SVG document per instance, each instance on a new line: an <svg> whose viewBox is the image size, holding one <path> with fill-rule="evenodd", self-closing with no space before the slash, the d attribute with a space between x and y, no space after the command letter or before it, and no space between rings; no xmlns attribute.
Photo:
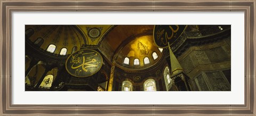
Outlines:
<svg viewBox="0 0 256 116"><path fill-rule="evenodd" d="M102 66L102 56L91 49L78 50L66 60L67 72L75 77L88 77L97 73Z"/></svg>

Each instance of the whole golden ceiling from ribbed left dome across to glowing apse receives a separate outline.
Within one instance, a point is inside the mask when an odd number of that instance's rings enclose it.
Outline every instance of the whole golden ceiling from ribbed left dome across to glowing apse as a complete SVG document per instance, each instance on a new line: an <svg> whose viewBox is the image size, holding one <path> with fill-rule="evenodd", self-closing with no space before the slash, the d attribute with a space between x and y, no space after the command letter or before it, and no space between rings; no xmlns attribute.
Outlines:
<svg viewBox="0 0 256 116"><path fill-rule="evenodd" d="M162 57L153 40L154 25L26 25L25 28L33 30L28 38L31 42L43 39L39 46L41 49L46 50L50 44L54 44L55 54L60 54L61 49L66 48L67 55L70 55L74 47L79 50L83 44L92 45L109 63L115 61L126 68L145 68ZM153 52L158 58L153 58ZM130 59L128 65L124 64L126 57ZM147 65L144 63L146 57L149 59ZM139 65L134 66L134 59L139 59Z"/></svg>

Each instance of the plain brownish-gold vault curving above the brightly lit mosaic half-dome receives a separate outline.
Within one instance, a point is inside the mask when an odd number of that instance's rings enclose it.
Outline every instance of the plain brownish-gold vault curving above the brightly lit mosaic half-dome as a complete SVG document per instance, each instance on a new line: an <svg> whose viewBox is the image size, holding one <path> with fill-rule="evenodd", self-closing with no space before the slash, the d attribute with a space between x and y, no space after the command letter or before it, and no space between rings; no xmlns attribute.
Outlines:
<svg viewBox="0 0 256 116"><path fill-rule="evenodd" d="M110 62L131 41L144 35L153 35L154 25L115 25L99 42L99 48ZM128 51L128 50L127 50Z"/></svg>

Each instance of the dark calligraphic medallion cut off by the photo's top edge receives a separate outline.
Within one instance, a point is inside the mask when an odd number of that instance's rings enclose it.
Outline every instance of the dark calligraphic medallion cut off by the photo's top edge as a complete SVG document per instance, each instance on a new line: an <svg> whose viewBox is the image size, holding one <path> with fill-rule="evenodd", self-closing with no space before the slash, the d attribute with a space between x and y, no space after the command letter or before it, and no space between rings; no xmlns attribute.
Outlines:
<svg viewBox="0 0 256 116"><path fill-rule="evenodd" d="M177 40L187 25L155 25L154 26L154 42L159 48L168 47L168 42L172 44Z"/></svg>

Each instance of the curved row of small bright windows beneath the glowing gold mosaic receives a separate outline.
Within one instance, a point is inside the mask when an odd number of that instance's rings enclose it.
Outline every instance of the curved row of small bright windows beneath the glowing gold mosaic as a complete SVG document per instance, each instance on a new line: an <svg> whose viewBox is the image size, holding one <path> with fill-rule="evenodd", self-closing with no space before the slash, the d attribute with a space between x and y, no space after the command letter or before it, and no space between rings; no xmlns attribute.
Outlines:
<svg viewBox="0 0 256 116"><path fill-rule="evenodd" d="M158 50L160 52L162 52L163 48L158 48ZM153 52L152 56L153 56L154 60L158 58L156 52ZM144 60L144 64L149 64L149 62L150 62L148 57L145 57L143 60ZM130 63L130 59L128 57L125 57L124 58L124 64L129 65L129 63ZM133 65L140 65L140 60L138 58L135 58L134 61L133 61Z"/></svg>

